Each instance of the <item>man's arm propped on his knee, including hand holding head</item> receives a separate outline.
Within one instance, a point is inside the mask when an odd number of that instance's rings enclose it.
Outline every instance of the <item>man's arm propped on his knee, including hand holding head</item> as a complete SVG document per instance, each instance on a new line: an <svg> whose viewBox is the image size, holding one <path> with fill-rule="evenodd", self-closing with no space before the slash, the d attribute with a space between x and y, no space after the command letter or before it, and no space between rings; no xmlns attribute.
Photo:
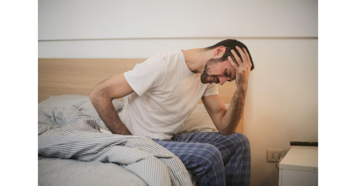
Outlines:
<svg viewBox="0 0 356 186"><path fill-rule="evenodd" d="M242 61L237 56L236 52L232 50L231 53L234 55L237 64L232 61L230 56L228 57L228 60L236 71L236 91L230 102L229 109L226 109L224 102L219 95L211 95L201 98L216 128L219 133L223 135L235 133L242 114L244 114L247 81L252 66L246 49L242 50L237 46L236 49L239 51Z"/></svg>

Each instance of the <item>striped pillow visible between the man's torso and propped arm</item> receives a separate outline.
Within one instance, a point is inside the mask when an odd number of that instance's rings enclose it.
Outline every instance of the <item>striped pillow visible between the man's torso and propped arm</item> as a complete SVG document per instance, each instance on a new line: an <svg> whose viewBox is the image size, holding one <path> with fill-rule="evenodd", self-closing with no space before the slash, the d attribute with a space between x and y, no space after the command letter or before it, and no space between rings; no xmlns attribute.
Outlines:
<svg viewBox="0 0 356 186"><path fill-rule="evenodd" d="M229 108L229 106L230 103L225 104L226 108ZM192 114L177 131L177 134L197 132L218 132L203 104L198 104L195 107Z"/></svg>

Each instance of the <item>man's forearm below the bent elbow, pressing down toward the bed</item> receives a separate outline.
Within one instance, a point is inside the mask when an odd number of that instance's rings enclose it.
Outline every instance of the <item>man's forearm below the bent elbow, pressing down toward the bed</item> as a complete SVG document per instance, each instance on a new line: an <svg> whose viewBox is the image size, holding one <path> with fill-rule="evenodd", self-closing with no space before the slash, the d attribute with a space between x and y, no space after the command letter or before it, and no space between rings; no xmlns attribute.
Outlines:
<svg viewBox="0 0 356 186"><path fill-rule="evenodd" d="M112 101L107 98L90 97L91 103L99 113L100 118L113 134L132 135L126 126L121 122Z"/></svg>

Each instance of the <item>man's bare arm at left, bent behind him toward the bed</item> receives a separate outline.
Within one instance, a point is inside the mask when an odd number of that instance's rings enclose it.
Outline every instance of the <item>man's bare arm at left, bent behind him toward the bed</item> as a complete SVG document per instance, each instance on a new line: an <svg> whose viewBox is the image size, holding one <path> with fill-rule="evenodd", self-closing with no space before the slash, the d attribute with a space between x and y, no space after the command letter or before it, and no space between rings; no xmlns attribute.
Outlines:
<svg viewBox="0 0 356 186"><path fill-rule="evenodd" d="M124 74L117 74L100 84L90 92L90 101L100 118L113 134L132 135L121 122L112 100L131 94L133 89L127 83Z"/></svg>

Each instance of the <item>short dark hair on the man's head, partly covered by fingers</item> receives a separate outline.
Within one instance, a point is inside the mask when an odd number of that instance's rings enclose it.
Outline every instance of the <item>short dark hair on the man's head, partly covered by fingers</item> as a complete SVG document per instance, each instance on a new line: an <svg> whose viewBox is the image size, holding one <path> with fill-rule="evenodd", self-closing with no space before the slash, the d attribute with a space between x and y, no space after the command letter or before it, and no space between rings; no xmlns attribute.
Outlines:
<svg viewBox="0 0 356 186"><path fill-rule="evenodd" d="M255 65L253 64L253 61L252 61L252 57L251 57L250 51L248 51L247 46L245 44L241 43L240 41L237 41L236 39L225 39L223 41L220 41L219 43L216 43L213 46L209 46L209 47L204 48L204 50L213 50L213 49L215 49L215 48L217 48L219 46L225 46L225 49L226 49L223 57L221 57L219 59L220 61L226 61L227 60L227 56L231 56L232 60L234 60L235 63L236 63L235 57L231 53L232 49L235 50L235 52L237 53L237 56L239 56L240 59L241 59L240 52L237 51L237 49L235 47L235 46L238 46L241 49L245 48L247 53L248 53L248 55L250 56L250 60L251 60L251 63L252 63L251 71L255 68ZM242 59L241 59L241 61L242 61Z"/></svg>

